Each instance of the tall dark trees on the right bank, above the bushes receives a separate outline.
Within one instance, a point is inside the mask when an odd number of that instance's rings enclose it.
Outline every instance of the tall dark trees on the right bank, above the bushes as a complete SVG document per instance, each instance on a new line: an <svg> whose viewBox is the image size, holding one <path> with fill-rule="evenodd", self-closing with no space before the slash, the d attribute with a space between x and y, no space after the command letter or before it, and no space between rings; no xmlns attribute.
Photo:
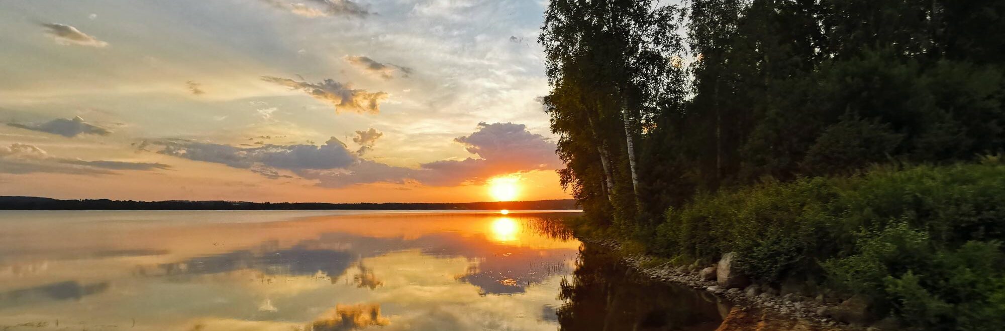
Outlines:
<svg viewBox="0 0 1005 331"><path fill-rule="evenodd" d="M1005 145L1005 1L554 0L562 184L650 231L699 193Z"/></svg>

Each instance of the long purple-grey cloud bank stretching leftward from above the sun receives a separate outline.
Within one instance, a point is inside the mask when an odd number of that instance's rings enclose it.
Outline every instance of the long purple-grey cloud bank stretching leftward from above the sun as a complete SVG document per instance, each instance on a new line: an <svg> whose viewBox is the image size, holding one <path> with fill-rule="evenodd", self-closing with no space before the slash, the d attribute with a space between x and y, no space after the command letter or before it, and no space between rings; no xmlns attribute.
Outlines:
<svg viewBox="0 0 1005 331"><path fill-rule="evenodd" d="M356 131L356 152L332 137L325 144L265 144L237 147L229 144L182 139L148 141L140 145L150 150L159 145L159 153L193 160L246 169L269 179L288 178L278 171L289 171L306 180L317 181L324 188L344 188L371 183L407 184L445 187L480 184L497 176L561 168L555 143L541 134L531 133L524 124L478 123L477 130L454 141L477 156L462 160L444 159L419 164L419 168L395 167L360 158L383 133L374 128Z"/></svg>

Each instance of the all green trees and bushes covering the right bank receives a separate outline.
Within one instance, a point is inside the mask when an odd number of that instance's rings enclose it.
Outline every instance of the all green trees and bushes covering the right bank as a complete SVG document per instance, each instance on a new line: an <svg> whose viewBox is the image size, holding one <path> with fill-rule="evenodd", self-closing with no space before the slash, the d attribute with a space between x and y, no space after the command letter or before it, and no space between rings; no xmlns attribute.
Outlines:
<svg viewBox="0 0 1005 331"><path fill-rule="evenodd" d="M1005 147L1005 1L659 3L549 3L544 103L583 228L675 262L742 252L759 281L919 327L1000 325L1001 273L967 271L1005 240L1001 156L980 156Z"/></svg>

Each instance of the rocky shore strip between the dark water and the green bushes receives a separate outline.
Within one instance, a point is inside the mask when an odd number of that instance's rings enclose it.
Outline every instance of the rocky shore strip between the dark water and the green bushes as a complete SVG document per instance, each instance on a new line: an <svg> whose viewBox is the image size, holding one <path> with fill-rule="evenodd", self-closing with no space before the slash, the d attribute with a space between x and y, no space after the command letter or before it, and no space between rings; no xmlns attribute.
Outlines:
<svg viewBox="0 0 1005 331"><path fill-rule="evenodd" d="M614 240L581 239L620 251ZM719 328L727 330L878 330L865 328L866 303L856 298L835 300L822 295L810 298L799 293L781 293L769 286L749 284L743 277L730 271L732 254L724 255L716 265L680 266L668 264L647 267L656 261L645 255L622 254L622 260L638 272L663 282L709 291L735 305ZM883 328L886 329L886 328Z"/></svg>

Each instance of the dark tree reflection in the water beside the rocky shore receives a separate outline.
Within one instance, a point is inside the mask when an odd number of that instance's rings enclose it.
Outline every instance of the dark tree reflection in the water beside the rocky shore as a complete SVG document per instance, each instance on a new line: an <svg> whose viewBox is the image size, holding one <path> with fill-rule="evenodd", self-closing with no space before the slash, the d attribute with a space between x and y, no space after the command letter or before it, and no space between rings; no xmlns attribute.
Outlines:
<svg viewBox="0 0 1005 331"><path fill-rule="evenodd" d="M653 281L584 244L572 281L562 279L562 330L715 330L729 311L715 296Z"/></svg>

